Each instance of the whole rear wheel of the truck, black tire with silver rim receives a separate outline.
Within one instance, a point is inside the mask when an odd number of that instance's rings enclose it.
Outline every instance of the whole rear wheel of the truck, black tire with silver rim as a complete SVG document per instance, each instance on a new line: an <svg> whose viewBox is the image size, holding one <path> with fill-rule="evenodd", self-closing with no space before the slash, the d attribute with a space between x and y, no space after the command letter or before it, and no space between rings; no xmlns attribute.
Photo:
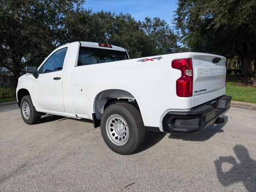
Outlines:
<svg viewBox="0 0 256 192"><path fill-rule="evenodd" d="M145 137L141 114L129 103L115 103L107 107L100 121L100 129L106 145L122 155L135 152Z"/></svg>

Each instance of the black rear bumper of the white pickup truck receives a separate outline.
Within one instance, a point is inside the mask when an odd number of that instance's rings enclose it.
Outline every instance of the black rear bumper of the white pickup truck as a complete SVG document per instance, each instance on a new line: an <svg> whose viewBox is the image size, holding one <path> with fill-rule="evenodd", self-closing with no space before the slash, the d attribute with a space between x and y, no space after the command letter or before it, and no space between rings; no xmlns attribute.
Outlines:
<svg viewBox="0 0 256 192"><path fill-rule="evenodd" d="M190 111L170 111L163 120L165 132L193 133L216 122L230 108L231 97L224 95L193 107Z"/></svg>

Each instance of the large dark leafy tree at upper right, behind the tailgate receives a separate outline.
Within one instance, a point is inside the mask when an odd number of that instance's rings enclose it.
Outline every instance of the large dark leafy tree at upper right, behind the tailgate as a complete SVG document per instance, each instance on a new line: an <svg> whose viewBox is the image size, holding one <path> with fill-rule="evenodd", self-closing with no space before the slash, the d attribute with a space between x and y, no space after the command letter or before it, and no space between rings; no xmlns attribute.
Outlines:
<svg viewBox="0 0 256 192"><path fill-rule="evenodd" d="M189 49L239 55L247 74L256 58L255 18L255 0L179 0L174 23Z"/></svg>

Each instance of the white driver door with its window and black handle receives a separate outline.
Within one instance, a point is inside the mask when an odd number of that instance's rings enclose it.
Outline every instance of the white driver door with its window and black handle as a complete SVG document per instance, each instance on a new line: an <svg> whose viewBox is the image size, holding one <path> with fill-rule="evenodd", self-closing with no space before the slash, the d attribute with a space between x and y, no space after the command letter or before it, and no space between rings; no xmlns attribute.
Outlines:
<svg viewBox="0 0 256 192"><path fill-rule="evenodd" d="M63 64L68 47L55 51L40 67L37 79L33 79L33 96L39 110L64 112Z"/></svg>

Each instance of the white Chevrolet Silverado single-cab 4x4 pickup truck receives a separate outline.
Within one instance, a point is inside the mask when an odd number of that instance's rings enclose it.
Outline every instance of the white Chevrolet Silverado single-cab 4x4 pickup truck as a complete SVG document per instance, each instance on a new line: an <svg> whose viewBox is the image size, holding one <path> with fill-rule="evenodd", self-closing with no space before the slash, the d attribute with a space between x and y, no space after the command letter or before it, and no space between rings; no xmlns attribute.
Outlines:
<svg viewBox="0 0 256 192"><path fill-rule="evenodd" d="M223 123L231 102L225 62L192 52L129 59L118 46L72 42L27 66L16 97L27 124L45 113L92 119L111 150L131 154L145 130L191 133Z"/></svg>

